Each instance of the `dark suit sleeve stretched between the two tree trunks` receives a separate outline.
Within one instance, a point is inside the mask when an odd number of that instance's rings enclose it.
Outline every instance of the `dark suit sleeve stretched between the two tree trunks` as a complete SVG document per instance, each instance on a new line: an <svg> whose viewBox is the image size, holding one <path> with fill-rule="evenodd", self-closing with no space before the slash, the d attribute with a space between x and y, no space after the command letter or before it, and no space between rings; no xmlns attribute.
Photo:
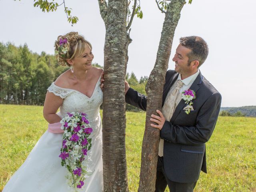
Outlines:
<svg viewBox="0 0 256 192"><path fill-rule="evenodd" d="M132 88L128 89L125 95L125 102L144 111L147 109L147 96L140 94Z"/></svg>

